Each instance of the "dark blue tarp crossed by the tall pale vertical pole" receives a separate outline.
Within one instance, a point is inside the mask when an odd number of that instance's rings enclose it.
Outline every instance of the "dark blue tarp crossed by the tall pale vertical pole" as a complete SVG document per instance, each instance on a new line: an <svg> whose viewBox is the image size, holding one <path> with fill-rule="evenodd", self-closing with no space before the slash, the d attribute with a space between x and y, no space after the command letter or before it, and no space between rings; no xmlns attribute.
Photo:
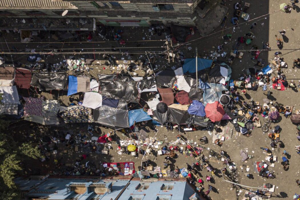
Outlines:
<svg viewBox="0 0 300 200"><path fill-rule="evenodd" d="M198 61L198 71L204 70L211 66L212 60L197 58ZM196 72L196 58L187 58L184 60L184 64L182 66L183 73L195 73Z"/></svg>

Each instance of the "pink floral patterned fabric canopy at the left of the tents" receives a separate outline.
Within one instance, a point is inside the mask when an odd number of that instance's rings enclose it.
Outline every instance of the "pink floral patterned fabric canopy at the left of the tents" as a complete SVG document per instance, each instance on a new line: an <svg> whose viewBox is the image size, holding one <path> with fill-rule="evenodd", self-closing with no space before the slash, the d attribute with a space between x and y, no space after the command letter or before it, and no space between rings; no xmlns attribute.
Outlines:
<svg viewBox="0 0 300 200"><path fill-rule="evenodd" d="M43 98L32 98L32 97L23 97L25 100L24 105L24 117L29 115L42 115L43 110Z"/></svg>

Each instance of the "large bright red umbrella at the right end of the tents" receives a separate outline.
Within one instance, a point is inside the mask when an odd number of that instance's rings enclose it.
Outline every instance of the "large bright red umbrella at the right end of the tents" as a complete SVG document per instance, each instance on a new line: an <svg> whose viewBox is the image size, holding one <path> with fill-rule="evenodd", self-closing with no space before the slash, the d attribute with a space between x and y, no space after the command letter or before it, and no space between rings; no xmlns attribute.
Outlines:
<svg viewBox="0 0 300 200"><path fill-rule="evenodd" d="M206 104L205 113L206 117L208 117L212 122L215 122L222 119L225 111L219 101L215 101L214 103Z"/></svg>

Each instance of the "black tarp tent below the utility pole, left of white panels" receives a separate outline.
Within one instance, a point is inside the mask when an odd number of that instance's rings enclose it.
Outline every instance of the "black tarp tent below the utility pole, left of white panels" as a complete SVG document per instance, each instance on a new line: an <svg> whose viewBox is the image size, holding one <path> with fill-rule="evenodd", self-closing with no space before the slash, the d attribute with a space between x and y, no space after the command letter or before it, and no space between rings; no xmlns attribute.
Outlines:
<svg viewBox="0 0 300 200"><path fill-rule="evenodd" d="M159 87L172 88L176 81L176 75L174 70L167 68L164 71L160 71L156 74L156 84Z"/></svg>

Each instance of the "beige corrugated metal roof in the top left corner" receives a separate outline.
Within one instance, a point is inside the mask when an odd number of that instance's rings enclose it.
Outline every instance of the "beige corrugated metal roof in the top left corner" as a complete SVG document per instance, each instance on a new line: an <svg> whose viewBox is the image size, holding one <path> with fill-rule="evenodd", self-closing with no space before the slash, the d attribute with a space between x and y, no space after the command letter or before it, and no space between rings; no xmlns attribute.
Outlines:
<svg viewBox="0 0 300 200"><path fill-rule="evenodd" d="M64 9L77 7L67 1L52 1L52 0L0 0L0 9Z"/></svg>

